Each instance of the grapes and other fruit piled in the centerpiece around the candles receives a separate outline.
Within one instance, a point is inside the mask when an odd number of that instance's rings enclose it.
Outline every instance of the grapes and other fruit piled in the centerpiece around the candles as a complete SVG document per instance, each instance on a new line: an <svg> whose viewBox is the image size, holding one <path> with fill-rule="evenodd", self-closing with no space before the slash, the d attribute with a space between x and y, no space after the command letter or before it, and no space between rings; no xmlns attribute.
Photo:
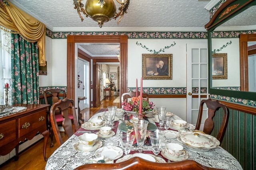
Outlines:
<svg viewBox="0 0 256 170"><path fill-rule="evenodd" d="M139 96L140 97L140 96ZM122 102L123 109L126 111L139 111L140 107L140 98L132 97L130 102ZM147 100L142 100L142 112L144 111L152 111L154 109L155 104L153 102L148 102Z"/></svg>

